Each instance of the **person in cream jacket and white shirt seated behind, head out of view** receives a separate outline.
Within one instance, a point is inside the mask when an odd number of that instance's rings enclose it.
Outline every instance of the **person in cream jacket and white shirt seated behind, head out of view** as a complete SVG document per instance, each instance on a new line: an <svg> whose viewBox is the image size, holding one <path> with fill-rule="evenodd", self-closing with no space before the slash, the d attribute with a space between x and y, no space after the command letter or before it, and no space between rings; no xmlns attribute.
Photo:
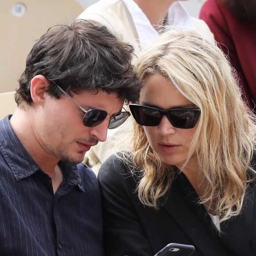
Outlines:
<svg viewBox="0 0 256 256"><path fill-rule="evenodd" d="M172 25L182 30L198 30L207 39L214 36L203 20L191 17L177 0L99 0L79 15L92 23L105 25L120 41L129 42L136 55L158 37L162 25ZM88 151L88 160L95 173L102 162L118 147L127 147L132 123L110 131L104 143ZM121 143L124 142L124 143Z"/></svg>

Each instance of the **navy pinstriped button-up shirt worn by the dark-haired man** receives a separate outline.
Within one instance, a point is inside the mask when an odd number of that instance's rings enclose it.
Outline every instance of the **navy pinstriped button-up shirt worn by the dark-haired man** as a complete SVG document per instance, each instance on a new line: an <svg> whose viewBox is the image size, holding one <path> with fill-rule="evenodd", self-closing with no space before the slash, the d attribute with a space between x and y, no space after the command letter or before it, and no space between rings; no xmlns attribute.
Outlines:
<svg viewBox="0 0 256 256"><path fill-rule="evenodd" d="M98 181L84 165L59 162L64 179L51 178L0 120L0 255L101 256L102 211Z"/></svg>

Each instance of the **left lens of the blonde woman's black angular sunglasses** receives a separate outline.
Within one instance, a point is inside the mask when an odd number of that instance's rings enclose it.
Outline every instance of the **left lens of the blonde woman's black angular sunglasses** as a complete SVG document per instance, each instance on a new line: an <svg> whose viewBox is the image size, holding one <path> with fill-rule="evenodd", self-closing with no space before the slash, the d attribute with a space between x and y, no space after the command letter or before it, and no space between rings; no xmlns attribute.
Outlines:
<svg viewBox="0 0 256 256"><path fill-rule="evenodd" d="M154 109L143 107L131 109L136 122L144 126L156 126L160 123L161 113Z"/></svg>

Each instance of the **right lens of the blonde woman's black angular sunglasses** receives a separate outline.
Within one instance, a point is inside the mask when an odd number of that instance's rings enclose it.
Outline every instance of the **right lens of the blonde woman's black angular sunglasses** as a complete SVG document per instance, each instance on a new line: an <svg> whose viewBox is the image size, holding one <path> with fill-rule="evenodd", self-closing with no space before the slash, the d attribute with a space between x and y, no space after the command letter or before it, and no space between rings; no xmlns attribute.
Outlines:
<svg viewBox="0 0 256 256"><path fill-rule="evenodd" d="M172 111L168 114L171 124L176 128L193 128L195 125L195 113L192 111Z"/></svg>

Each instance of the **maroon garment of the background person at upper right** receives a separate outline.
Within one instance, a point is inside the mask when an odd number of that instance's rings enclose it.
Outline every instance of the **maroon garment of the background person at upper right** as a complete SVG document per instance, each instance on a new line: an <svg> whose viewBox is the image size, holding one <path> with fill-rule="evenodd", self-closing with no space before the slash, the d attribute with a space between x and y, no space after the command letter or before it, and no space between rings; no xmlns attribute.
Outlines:
<svg viewBox="0 0 256 256"><path fill-rule="evenodd" d="M248 106L256 110L256 23L236 17L229 8L215 0L203 4L200 19L207 23L220 43L218 46L229 56Z"/></svg>

